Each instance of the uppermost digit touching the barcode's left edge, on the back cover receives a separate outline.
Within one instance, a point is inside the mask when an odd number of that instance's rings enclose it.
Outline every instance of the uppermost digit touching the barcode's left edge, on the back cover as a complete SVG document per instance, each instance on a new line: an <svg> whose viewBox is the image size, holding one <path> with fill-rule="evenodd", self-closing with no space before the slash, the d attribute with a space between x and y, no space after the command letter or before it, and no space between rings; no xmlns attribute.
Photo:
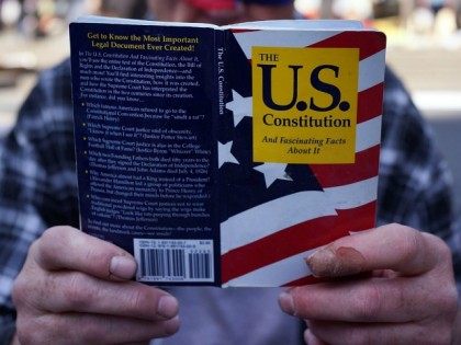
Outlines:
<svg viewBox="0 0 461 345"><path fill-rule="evenodd" d="M31 249L44 269L85 272L102 279L131 279L136 262L123 249L70 227L46 230Z"/></svg>

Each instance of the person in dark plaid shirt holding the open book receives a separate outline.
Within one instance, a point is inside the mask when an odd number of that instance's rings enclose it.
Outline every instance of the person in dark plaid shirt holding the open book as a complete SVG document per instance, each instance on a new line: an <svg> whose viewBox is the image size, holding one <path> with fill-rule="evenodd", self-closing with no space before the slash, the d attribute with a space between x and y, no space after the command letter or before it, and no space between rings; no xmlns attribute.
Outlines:
<svg viewBox="0 0 461 345"><path fill-rule="evenodd" d="M176 21L293 14L286 0L151 0L149 7L157 19ZM132 255L76 229L69 61L45 71L0 146L2 343L456 342L452 263L459 273L461 250L449 174L402 83L389 70L385 78L380 227L339 239L306 261L316 276L338 279L286 290L165 291L130 280ZM304 333L299 320L308 325Z"/></svg>

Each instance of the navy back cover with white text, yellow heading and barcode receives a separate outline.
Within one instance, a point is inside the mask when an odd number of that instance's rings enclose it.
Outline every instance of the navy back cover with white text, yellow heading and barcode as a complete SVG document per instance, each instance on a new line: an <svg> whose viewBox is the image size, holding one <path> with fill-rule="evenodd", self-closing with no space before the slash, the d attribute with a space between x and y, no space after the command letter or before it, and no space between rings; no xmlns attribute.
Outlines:
<svg viewBox="0 0 461 345"><path fill-rule="evenodd" d="M71 24L81 229L148 284L220 285L212 27Z"/></svg>

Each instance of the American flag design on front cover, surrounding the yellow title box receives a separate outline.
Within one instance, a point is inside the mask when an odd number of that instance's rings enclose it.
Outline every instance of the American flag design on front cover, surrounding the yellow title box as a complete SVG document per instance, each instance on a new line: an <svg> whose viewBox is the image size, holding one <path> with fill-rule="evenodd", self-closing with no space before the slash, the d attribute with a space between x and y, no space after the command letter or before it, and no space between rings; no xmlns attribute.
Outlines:
<svg viewBox="0 0 461 345"><path fill-rule="evenodd" d="M358 51L353 162L254 160L255 46ZM315 281L304 258L335 239L375 225L385 36L371 30L243 26L227 32L225 47L226 112L217 136L222 285ZM276 88L292 90L291 84Z"/></svg>

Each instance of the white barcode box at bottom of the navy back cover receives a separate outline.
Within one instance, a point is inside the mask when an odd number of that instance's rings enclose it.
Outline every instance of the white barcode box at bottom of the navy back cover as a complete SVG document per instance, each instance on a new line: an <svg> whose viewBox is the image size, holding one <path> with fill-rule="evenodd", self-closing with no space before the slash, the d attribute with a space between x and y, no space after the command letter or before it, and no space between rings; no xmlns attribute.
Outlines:
<svg viewBox="0 0 461 345"><path fill-rule="evenodd" d="M134 240L139 281L214 281L213 241Z"/></svg>

